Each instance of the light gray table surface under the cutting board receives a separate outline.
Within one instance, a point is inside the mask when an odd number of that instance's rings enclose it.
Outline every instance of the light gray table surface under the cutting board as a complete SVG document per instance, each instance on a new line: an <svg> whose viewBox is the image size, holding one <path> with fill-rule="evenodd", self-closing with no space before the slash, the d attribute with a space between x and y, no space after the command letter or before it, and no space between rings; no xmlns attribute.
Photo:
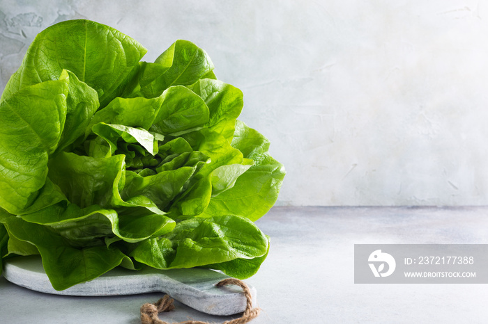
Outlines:
<svg viewBox="0 0 488 324"><path fill-rule="evenodd" d="M275 207L257 225L272 245L245 280L263 310L251 323L488 323L487 284L354 284L353 267L355 243L488 243L488 207ZM0 323L140 323L161 296L46 295L0 277ZM232 317L176 303L160 318Z"/></svg>

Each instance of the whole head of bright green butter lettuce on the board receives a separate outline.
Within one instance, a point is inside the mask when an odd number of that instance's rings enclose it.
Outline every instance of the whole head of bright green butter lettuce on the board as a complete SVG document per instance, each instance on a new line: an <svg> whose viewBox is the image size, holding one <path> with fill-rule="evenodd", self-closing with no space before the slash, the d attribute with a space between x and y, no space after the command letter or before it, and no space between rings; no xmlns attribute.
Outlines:
<svg viewBox="0 0 488 324"><path fill-rule="evenodd" d="M116 266L259 270L270 240L254 220L283 165L203 49L145 53L84 19L32 42L0 98L0 270L40 254L57 290Z"/></svg>

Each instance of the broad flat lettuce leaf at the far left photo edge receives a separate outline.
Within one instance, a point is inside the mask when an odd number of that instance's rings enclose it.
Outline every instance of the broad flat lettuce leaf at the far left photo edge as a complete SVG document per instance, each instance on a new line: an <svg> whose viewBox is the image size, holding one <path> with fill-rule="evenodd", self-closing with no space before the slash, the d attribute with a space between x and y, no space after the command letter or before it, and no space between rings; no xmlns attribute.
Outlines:
<svg viewBox="0 0 488 324"><path fill-rule="evenodd" d="M61 79L0 102L0 206L10 213L22 212L45 184L47 160L66 120L67 95L68 79Z"/></svg>

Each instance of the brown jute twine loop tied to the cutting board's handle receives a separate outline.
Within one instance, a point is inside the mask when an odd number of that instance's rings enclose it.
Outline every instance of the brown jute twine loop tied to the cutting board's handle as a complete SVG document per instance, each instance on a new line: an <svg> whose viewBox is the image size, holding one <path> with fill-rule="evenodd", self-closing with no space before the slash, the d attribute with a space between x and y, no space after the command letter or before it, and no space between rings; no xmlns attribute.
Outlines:
<svg viewBox="0 0 488 324"><path fill-rule="evenodd" d="M243 293L246 300L245 311L243 316L240 318L236 318L231 321L225 321L222 324L242 324L251 321L252 319L256 318L259 315L261 309L259 307L252 308L252 296L249 287L241 280L237 280L234 278L227 278L224 279L216 284L216 286L225 286L226 284L235 284L236 286L240 286L243 289ZM174 310L174 300L169 297L169 295L165 295L165 297L160 298L154 304L146 303L141 306L141 323L142 324L170 324L165 321L161 321L158 317L158 314L162 311L172 311ZM210 324L208 322L202 321L185 321L185 322L178 322L173 324Z"/></svg>

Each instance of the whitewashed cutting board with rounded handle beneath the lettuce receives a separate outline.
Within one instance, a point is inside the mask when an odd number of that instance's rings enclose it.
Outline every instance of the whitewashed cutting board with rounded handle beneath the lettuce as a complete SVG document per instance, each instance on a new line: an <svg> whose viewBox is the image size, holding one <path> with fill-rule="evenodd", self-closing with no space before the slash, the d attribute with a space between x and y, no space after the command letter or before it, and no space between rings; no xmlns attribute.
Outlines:
<svg viewBox="0 0 488 324"><path fill-rule="evenodd" d="M241 288L215 286L228 276L204 268L145 268L134 271L118 267L89 282L56 291L47 278L40 257L31 256L5 260L3 277L33 291L56 295L102 296L162 292L185 305L212 315L237 314L243 312L246 307ZM248 286L253 297L253 305L256 305L256 289Z"/></svg>

